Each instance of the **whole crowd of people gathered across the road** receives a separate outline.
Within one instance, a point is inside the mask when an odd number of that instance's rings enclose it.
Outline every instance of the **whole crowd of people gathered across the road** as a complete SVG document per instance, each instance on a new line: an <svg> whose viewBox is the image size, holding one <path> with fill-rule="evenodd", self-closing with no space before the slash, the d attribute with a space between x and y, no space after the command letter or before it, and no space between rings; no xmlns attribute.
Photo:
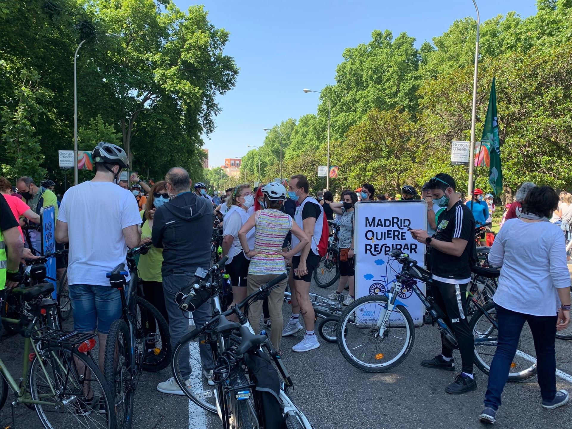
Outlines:
<svg viewBox="0 0 572 429"><path fill-rule="evenodd" d="M12 288L22 280L22 256L33 257L40 250L33 232L39 231L41 209L54 206L55 239L69 246L67 278L74 330L97 331L101 367L109 326L121 317L120 293L109 287L106 273L119 263L126 264L128 248L153 244L140 257L138 272L145 296L168 320L173 347L189 329L188 316L178 308L174 296L193 279L197 268L210 267L215 223L222 228L222 256L228 257L225 271L232 285L231 305L287 272L287 264L290 265L289 278L277 285L267 303L252 305L249 320L255 332L271 328L270 339L280 353L283 336L304 331L292 351L308 352L320 347L309 288L328 243L328 220L339 225L340 247L340 281L328 297L350 305L355 299L356 204L423 199L427 203L427 228L410 232L415 240L427 245L427 265L435 285L432 296L446 312L462 361L462 372L445 391L463 394L476 388L474 339L466 317L467 287L476 256L475 227L490 223L495 211L492 194L475 189L470 200L464 201L454 178L440 173L422 186L420 194L410 185L402 186L401 194L395 196L376 194L374 186L364 183L339 196L327 189L312 196L308 179L296 174L287 181L287 188L276 182L256 188L240 184L226 189L224 194L209 195L204 183L193 184L188 172L180 167L170 169L165 180L153 184L147 184L137 174L132 174L129 181L118 180L129 165L125 151L113 144L101 142L94 148L92 158L94 178L67 189L61 202L49 189L49 182L37 186L32 178L21 177L14 188L0 178L0 287ZM483 422L495 422L525 321L534 336L542 406L553 409L568 400L566 391L556 390L554 344L557 329L570 323L570 275L562 231L569 233L571 220L571 194L563 192L558 196L549 186L531 183L522 185L515 202L506 210L489 256L492 264L502 268L494 296L498 347L491 364L484 410L479 416ZM292 292L292 306L283 326L287 284ZM514 284L519 288L514 288ZM345 288L347 296L343 295ZM265 320L264 305L268 312ZM212 317L210 301L196 308L192 317L195 324L208 321ZM199 347L205 383L214 385L212 355L208 345L202 343ZM180 370L183 376L190 376L186 352ZM421 365L454 371L450 344L442 340L440 353L423 360ZM159 383L157 390L184 394L173 377Z"/></svg>

